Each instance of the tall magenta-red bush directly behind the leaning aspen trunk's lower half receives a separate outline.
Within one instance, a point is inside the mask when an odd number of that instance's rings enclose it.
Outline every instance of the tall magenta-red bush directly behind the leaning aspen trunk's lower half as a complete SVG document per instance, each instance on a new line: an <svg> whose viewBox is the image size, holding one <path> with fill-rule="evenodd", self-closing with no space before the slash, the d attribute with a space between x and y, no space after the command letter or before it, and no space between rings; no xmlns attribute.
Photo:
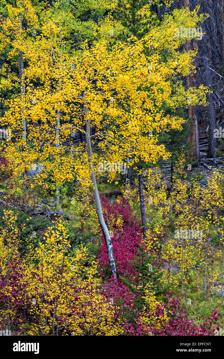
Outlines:
<svg viewBox="0 0 224 359"><path fill-rule="evenodd" d="M135 270L133 263L140 264L138 248L142 239L142 229L140 221L133 217L133 211L128 200L119 198L119 202L111 204L108 200L102 199L104 218L108 219L108 224L116 223L118 218L122 218L122 229L117 229L115 225L109 228L113 232L111 237L113 243L114 258L116 270L118 274L118 282L114 283L111 278L105 278L103 270L108 265L108 256L106 252L106 244L102 236L102 244L98 251L98 258L101 266L101 276L104 281L103 290L108 298L113 298L121 308L131 310L134 306L134 299L138 295L132 293L129 288L119 280L119 275L126 277L132 284L138 284L140 281L139 272Z"/></svg>

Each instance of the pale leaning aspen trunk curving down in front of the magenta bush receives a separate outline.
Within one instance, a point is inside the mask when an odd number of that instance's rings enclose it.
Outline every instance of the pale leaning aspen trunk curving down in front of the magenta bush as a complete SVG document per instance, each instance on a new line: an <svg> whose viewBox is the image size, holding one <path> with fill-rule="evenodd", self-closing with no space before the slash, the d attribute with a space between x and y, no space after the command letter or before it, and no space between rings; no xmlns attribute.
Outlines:
<svg viewBox="0 0 224 359"><path fill-rule="evenodd" d="M86 106L84 106L84 112L86 113L86 116L87 116L88 110L87 110ZM90 137L90 123L91 123L91 120L86 121L86 143L87 143L88 163L90 164L90 169L91 169L91 180L92 180L92 183L93 183L93 186L94 186L93 194L94 194L95 201L96 201L96 213L97 213L99 223L100 223L100 227L102 229L104 239L105 239L105 242L106 242L106 250L107 250L107 253L108 253L110 271L113 274L114 279L117 280L116 266L115 266L115 261L114 261L113 244L112 244L110 234L109 234L109 230L108 230L108 228L106 226L104 216L103 216L103 213L102 213L100 196L99 196L97 183L96 183L96 177L95 177L93 164L92 164L92 147L91 147L91 137Z"/></svg>

